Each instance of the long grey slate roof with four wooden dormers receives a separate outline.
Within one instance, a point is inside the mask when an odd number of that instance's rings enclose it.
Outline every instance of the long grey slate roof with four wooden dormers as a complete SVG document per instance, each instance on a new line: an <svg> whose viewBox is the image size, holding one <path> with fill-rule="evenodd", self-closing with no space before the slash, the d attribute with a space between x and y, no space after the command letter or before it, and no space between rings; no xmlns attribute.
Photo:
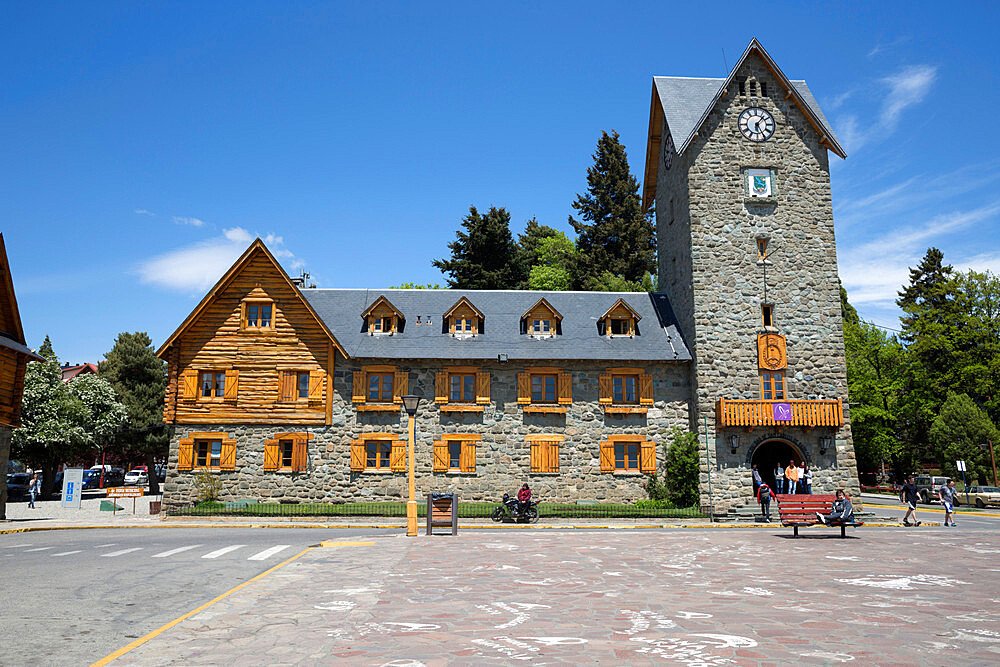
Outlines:
<svg viewBox="0 0 1000 667"><path fill-rule="evenodd" d="M535 292L412 289L303 289L306 298L350 357L382 359L496 359L689 361L665 294L645 292ZM405 317L401 332L369 335L361 313L385 296ZM443 333L442 316L461 297L484 314L472 338ZM561 334L521 333L521 316L544 297L563 316ZM597 321L619 299L641 316L634 338L601 336ZM417 316L421 324L417 325ZM431 324L423 324L430 318Z"/></svg>

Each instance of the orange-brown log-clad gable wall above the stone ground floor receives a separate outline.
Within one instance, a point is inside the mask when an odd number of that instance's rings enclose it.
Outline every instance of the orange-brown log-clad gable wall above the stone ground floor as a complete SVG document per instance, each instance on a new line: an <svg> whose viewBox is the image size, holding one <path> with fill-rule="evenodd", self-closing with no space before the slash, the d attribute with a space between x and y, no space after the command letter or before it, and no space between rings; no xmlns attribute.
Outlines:
<svg viewBox="0 0 1000 667"><path fill-rule="evenodd" d="M268 306L266 326L247 326L248 304ZM344 354L257 239L157 351L167 362L164 420L329 423L335 350ZM209 374L224 375L224 389L203 395ZM288 400L282 383L299 374L309 376L308 397Z"/></svg>

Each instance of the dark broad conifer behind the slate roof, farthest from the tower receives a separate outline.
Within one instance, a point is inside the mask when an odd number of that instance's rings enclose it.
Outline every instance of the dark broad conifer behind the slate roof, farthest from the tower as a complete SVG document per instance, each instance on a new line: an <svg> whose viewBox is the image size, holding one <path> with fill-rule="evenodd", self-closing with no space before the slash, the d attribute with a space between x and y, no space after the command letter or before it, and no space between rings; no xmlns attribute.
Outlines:
<svg viewBox="0 0 1000 667"><path fill-rule="evenodd" d="M448 244L451 259L431 264L448 275L453 289L516 289L524 282L518 248L510 233L510 213L490 208L480 215L475 206L462 219L465 231Z"/></svg>

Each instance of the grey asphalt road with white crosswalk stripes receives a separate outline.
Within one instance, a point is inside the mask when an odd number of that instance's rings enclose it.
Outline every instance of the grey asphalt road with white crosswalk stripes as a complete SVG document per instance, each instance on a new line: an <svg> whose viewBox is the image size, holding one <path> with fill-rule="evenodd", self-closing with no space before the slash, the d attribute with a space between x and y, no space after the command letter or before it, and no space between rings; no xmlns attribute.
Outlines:
<svg viewBox="0 0 1000 667"><path fill-rule="evenodd" d="M226 527L0 535L0 665L93 662L310 545L394 532Z"/></svg>

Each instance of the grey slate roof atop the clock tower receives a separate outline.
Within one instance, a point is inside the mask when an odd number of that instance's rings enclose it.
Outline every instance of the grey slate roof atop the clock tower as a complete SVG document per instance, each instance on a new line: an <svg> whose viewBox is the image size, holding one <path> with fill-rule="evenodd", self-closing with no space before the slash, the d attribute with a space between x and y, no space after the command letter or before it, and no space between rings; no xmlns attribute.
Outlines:
<svg viewBox="0 0 1000 667"><path fill-rule="evenodd" d="M667 126L670 128L670 135L674 139L678 154L682 153L690 144L692 135L697 131L703 116L726 81L728 79L721 77L653 77L656 93L663 106L663 115L667 119ZM834 141L837 141L837 135L834 134L833 128L830 127L829 121L820 110L819 103L813 97L806 82L790 80L789 83L795 88L795 92L802 96L809 110L816 115L823 130Z"/></svg>

